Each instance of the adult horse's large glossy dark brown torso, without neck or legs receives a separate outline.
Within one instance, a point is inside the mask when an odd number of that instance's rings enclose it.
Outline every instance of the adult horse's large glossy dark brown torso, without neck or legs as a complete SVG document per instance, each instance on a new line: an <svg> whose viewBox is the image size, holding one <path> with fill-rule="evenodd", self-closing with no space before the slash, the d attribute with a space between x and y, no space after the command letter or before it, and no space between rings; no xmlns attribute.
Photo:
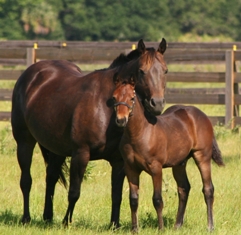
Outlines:
<svg viewBox="0 0 241 235"><path fill-rule="evenodd" d="M98 133L96 139L102 142L105 132L100 130L111 116L106 97L113 84L111 76L107 79L103 75L105 71L82 76L79 68L67 61L41 61L30 66L13 91L15 139L24 131L60 155L70 155L73 142L84 142L84 135L93 138L93 133Z"/></svg>

